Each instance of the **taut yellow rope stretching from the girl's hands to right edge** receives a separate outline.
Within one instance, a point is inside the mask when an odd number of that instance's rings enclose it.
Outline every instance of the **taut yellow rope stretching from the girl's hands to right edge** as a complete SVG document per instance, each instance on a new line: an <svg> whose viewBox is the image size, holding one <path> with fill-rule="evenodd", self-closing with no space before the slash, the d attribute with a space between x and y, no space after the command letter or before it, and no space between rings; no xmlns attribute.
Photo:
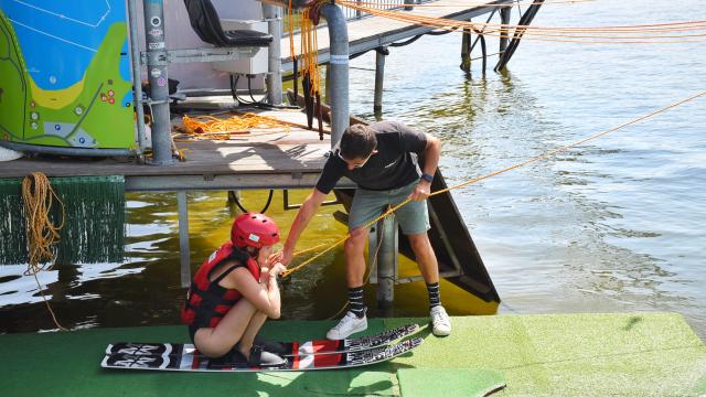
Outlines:
<svg viewBox="0 0 706 397"><path fill-rule="evenodd" d="M509 171L512 171L512 170L515 170L515 169L518 169L518 168L525 167L525 165L527 165L527 164L531 164L531 163L533 163L533 162L536 162L536 161L539 161L539 160L546 159L546 158L552 157L552 155L555 155L555 154L557 154L557 153L565 152L565 151L567 151L567 150L569 150L569 149L571 149L571 148L574 148L574 147L577 147L577 146L580 146L580 144L586 143L586 142L588 142L588 141L591 141L591 140L595 140L595 139L601 138L601 137L603 137L603 136L606 136L606 135L608 135L608 133L610 133L610 132L614 132L614 131L617 131L617 130L619 130L619 129L621 129L621 128L628 127L628 126L630 126L630 125L633 125L633 124L640 122L640 121L642 121L642 120L645 120L645 119L652 118L652 117L654 117L654 116L656 116L656 115L659 115L659 114L661 114L661 112L664 112L664 111L666 111L666 110L668 110L668 109L672 109L672 108L674 108L674 107L677 107L677 106L680 106L680 105L686 104L686 103L688 103L688 101L692 101L692 100L694 100L694 99L696 99L696 98L699 98L699 97L702 97L702 96L705 96L705 95L706 95L706 92L703 92L703 93L699 93L699 94L696 94L696 95L692 95L692 96L691 96L691 97L688 97L688 98L685 98L685 99L678 100L678 101L676 101L676 103L673 103L673 104L671 104L671 105L668 105L668 106L665 106L665 107L663 107L663 108L660 108L660 109L657 109L657 110L654 110L654 111L652 111L652 112L650 112L650 114L648 114L648 115L644 115L644 116L638 117L638 118L635 118L635 119L632 119L632 120L630 120L630 121L623 122L623 124L621 124L621 125L619 125L619 126L617 126L617 127L613 127L613 128L607 129L607 130L605 130L605 131L602 131L602 132L596 133L596 135L590 136L590 137L588 137L588 138L584 138L584 139L581 139L581 140L579 140L579 141L576 141L576 142L574 142L574 143L570 143L570 144L564 146L564 147L560 147L560 148L557 148L557 149L550 150L550 151L545 152L545 153L543 153L543 154L539 154L539 155L533 157L533 158L531 158L530 160L523 161L523 162L521 162L521 163L517 163L517 164L514 164L514 165L511 165L511 167L506 167L506 168L504 168L504 169L502 169L502 170L498 170L498 171L491 172L491 173L489 173L489 174L485 174L485 175L483 175L483 176L479 176L479 178L472 179L472 180L470 180L470 181L466 181L466 182L460 183L460 184L457 184L457 185L454 185L454 186L450 186L450 187L447 187L447 189L442 189L442 190L439 190L439 191L432 192L429 196L435 196L435 195L437 195L437 194L441 194L441 193L445 193L445 192L448 192L448 191L451 191L451 190L454 190L454 189L463 187L463 186L467 186L467 185L472 184L472 183L478 183L478 182L480 182L480 181L483 181L483 180L486 180L486 179L489 179L489 178L492 178L492 176L495 176L495 175L499 175L499 174L502 174L502 173L505 173L505 172L509 172ZM373 221L368 222L368 223L367 223L365 226L363 226L363 227L364 227L364 228L368 228L368 227L373 226L375 223L377 223L377 221L385 218L386 216L388 216L389 214L394 213L395 211L397 211L398 208L400 208L403 205L407 204L408 202L409 202L409 198L407 198L407 200L403 201L402 203L399 203L399 204L395 205L394 207L391 207L391 208L389 208L389 210L387 210L384 214L382 214L382 215L381 215L381 216L378 216L377 218L375 218L375 219L373 219ZM329 246L328 248L325 248L325 249L324 249L324 250L322 250L321 253L319 253L319 254L314 255L313 257L311 257L311 258L307 259L307 260L306 260L306 261L303 261L302 264L300 264L300 265L298 265L298 266L296 266L296 267L293 267L293 268L291 268L291 269L287 269L287 270L282 273L282 277L287 277L287 276L291 275L292 272L295 272L295 271L297 271L297 270L301 269L302 267L304 267L304 266L307 266L307 265L311 264L312 261L314 261L317 258L319 258L319 257L320 257L320 256L322 256L323 254L325 254L325 253L330 251L331 249L333 249L333 248L338 247L339 245L343 244L343 242L345 242L350 236L351 236L351 235L350 235L350 234L347 234L346 236L344 236L344 237L340 238L339 240L336 240L333 245Z"/></svg>

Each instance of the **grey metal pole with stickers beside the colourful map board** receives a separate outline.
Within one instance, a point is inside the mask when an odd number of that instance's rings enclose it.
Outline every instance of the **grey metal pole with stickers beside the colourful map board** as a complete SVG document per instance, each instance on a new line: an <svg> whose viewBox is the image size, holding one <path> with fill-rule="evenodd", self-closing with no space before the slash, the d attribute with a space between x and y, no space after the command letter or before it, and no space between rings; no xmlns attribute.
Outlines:
<svg viewBox="0 0 706 397"><path fill-rule="evenodd" d="M150 108L152 109L151 163L167 165L172 159L172 137L169 115L169 79L167 78L167 49L164 45L163 0L143 0L145 36L147 37L147 75L150 82Z"/></svg>

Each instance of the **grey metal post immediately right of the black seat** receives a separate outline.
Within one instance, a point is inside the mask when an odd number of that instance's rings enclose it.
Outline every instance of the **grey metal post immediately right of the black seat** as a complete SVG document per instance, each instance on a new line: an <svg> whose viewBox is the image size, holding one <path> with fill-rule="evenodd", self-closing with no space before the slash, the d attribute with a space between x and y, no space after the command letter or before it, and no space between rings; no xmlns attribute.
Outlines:
<svg viewBox="0 0 706 397"><path fill-rule="evenodd" d="M271 105L281 105L282 103L282 61L281 61L281 37L282 37L282 9L263 3L263 17L269 22L267 30L272 36L272 42L268 49L268 67L267 71L267 101Z"/></svg>

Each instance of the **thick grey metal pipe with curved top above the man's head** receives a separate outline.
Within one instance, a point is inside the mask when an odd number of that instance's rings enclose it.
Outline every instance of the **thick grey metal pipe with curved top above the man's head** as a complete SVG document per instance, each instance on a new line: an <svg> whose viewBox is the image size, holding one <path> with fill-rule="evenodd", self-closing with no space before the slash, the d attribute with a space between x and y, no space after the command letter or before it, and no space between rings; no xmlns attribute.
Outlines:
<svg viewBox="0 0 706 397"><path fill-rule="evenodd" d="M321 7L330 37L331 79L331 147L333 148L349 127L349 31L343 11L331 3Z"/></svg>

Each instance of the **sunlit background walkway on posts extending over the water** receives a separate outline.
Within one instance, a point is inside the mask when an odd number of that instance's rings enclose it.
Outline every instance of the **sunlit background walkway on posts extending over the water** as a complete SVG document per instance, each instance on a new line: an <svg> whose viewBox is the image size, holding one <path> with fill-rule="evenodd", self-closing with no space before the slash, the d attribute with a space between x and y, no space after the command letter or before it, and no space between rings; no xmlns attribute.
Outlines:
<svg viewBox="0 0 706 397"><path fill-rule="evenodd" d="M431 4L439 7L416 7L411 11L402 11L409 14L420 14L425 17L445 18L457 21L469 21L489 12L499 10L500 4L512 4L512 0L494 0L488 1L483 6L479 6L479 1L473 1L473 7L463 6L458 1L439 0ZM286 15L285 15L286 18ZM387 18L372 17L357 20L350 20L349 28L349 53L350 56L364 53L381 46L389 45L400 40L414 37L419 34L429 33L430 28L419 26L413 23L406 23ZM285 32L286 33L286 32ZM293 35L295 51L299 53L301 49L300 34ZM329 32L324 24L318 30L319 44L319 63L329 63ZM292 71L292 60L289 54L289 36L286 35L281 40L282 49L282 71Z"/></svg>

